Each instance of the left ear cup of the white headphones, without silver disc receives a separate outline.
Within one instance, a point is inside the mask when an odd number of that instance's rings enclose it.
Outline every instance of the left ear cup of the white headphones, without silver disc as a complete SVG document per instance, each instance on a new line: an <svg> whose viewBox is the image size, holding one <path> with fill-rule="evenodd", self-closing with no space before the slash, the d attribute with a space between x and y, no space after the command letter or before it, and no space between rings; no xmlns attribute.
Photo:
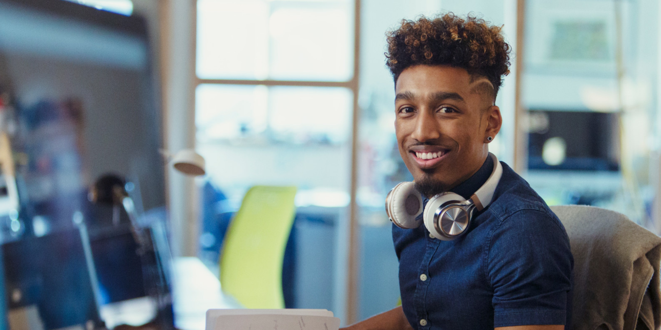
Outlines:
<svg viewBox="0 0 661 330"><path fill-rule="evenodd" d="M387 199L387 209L398 227L417 228L422 221L415 218L422 213L422 196L415 189L415 183L402 182L396 185Z"/></svg>

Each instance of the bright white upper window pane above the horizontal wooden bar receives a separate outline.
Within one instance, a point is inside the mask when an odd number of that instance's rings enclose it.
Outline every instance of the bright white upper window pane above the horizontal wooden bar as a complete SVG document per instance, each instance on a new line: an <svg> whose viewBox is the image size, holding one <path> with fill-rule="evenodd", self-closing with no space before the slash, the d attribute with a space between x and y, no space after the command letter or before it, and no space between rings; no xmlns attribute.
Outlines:
<svg viewBox="0 0 661 330"><path fill-rule="evenodd" d="M352 22L347 0L200 0L198 77L348 81Z"/></svg>

